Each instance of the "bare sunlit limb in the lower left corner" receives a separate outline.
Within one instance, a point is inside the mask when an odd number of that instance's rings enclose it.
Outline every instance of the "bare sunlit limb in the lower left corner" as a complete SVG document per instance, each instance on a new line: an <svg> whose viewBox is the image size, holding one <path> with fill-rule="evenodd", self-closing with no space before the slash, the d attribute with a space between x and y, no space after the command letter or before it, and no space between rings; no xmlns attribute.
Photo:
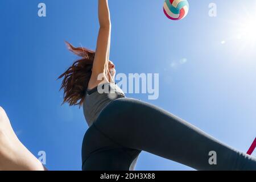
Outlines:
<svg viewBox="0 0 256 182"><path fill-rule="evenodd" d="M2 107L0 107L0 170L45 170L43 164L16 137Z"/></svg>

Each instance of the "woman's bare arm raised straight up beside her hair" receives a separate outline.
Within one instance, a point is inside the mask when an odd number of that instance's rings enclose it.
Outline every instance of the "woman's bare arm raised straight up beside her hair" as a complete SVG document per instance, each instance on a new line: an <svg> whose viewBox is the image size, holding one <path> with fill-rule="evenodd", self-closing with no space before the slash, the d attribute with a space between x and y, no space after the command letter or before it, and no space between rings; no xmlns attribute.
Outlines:
<svg viewBox="0 0 256 182"><path fill-rule="evenodd" d="M98 20L100 23L100 30L98 32L92 76L88 87L97 86L98 83L101 82L101 80L97 79L99 74L104 73L105 77L107 77L111 36L108 0L98 0Z"/></svg>

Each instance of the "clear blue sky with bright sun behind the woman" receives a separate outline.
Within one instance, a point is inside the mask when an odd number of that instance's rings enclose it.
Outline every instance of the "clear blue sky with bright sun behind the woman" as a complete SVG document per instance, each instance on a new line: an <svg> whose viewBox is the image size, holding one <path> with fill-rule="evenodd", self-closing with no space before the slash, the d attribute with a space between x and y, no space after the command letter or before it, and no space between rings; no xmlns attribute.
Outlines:
<svg viewBox="0 0 256 182"><path fill-rule="evenodd" d="M47 8L43 18L40 2ZM255 35L247 30L255 22L255 1L189 1L188 16L177 22L163 14L163 2L109 0L117 72L159 73L158 100L127 97L162 107L246 152L256 137ZM214 18L208 15L212 2ZM0 105L27 148L36 156L46 151L47 168L80 170L88 126L82 109L61 106L56 78L77 59L64 40L95 49L97 1L3 0L0 9ZM192 170L147 152L136 169Z"/></svg>

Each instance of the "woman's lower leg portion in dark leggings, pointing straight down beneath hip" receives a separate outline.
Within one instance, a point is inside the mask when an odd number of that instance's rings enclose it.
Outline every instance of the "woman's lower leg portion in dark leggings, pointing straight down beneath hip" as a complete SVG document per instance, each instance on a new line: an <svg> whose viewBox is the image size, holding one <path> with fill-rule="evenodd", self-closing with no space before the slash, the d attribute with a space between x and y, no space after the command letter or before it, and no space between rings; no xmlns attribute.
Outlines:
<svg viewBox="0 0 256 182"><path fill-rule="evenodd" d="M129 170L140 152L115 143L93 124L82 142L82 170Z"/></svg>

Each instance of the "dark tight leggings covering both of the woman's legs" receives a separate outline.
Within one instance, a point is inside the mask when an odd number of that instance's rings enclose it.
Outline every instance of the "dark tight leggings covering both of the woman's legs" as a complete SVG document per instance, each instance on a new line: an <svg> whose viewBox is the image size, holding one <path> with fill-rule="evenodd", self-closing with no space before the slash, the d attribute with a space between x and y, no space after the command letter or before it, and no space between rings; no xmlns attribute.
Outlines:
<svg viewBox="0 0 256 182"><path fill-rule="evenodd" d="M112 101L86 131L82 169L133 170L141 151L197 170L256 170L255 158L166 110L133 98ZM216 152L217 164L209 163L210 151Z"/></svg>

